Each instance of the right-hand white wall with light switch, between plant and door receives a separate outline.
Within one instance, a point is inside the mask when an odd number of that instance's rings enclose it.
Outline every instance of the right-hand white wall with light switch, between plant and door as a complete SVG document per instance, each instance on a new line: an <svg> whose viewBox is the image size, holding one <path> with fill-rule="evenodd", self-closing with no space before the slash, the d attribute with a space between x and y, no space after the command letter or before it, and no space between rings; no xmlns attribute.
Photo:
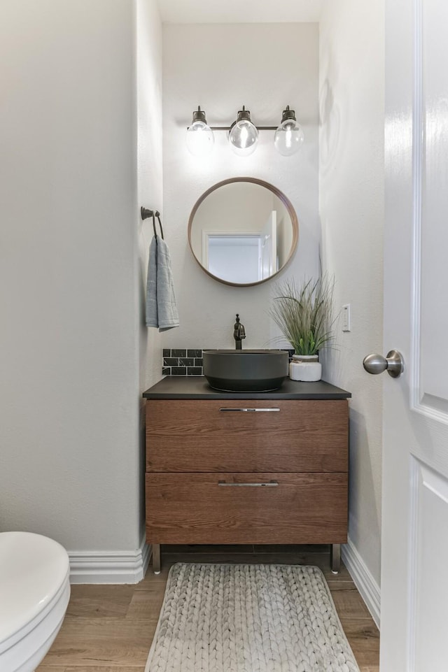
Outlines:
<svg viewBox="0 0 448 672"><path fill-rule="evenodd" d="M382 353L384 223L384 2L327 1L320 27L320 212L324 265L335 274L351 331L338 331L327 379L349 389L349 537L379 585L380 376L363 357Z"/></svg>

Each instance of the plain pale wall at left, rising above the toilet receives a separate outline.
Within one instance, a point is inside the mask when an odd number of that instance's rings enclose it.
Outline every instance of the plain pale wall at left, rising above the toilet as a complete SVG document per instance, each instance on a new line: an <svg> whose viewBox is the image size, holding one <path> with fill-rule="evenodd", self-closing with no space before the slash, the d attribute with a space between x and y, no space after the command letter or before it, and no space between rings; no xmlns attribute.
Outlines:
<svg viewBox="0 0 448 672"><path fill-rule="evenodd" d="M135 9L1 3L0 530L80 552L141 541Z"/></svg>

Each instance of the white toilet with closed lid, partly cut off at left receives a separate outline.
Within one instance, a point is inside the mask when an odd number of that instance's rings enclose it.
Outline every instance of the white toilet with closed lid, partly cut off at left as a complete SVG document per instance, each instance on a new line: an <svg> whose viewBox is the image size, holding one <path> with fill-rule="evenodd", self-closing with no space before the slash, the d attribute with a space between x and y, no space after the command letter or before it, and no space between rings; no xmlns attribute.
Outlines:
<svg viewBox="0 0 448 672"><path fill-rule="evenodd" d="M69 556L31 532L0 532L0 670L34 672L64 620Z"/></svg>

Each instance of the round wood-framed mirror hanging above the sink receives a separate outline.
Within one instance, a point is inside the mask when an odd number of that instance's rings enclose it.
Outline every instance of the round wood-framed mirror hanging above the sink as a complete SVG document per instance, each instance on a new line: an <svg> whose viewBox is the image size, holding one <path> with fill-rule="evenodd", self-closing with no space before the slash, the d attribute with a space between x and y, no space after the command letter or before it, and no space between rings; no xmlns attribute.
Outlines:
<svg viewBox="0 0 448 672"><path fill-rule="evenodd" d="M204 271L225 285L259 285L288 264L299 227L290 201L255 178L210 187L195 203L188 242Z"/></svg>

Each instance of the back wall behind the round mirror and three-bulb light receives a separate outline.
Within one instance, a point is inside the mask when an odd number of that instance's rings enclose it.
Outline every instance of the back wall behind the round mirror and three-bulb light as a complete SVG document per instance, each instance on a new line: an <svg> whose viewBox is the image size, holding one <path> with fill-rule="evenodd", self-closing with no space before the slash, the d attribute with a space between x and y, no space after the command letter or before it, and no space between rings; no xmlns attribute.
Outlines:
<svg viewBox="0 0 448 672"><path fill-rule="evenodd" d="M273 131L260 131L253 155L237 157L227 134L216 131L214 153L189 154L185 134L200 105L211 126L229 125L241 106L253 122L275 125L290 105L303 124L302 152L281 157ZM163 335L166 348L232 348L235 313L246 327L246 348L269 345L273 283L229 287L209 278L188 247L193 205L211 185L235 176L279 187L299 218L299 245L279 278L302 278L318 269L318 25L165 24L163 29L164 210L181 326ZM271 343L272 345L272 343Z"/></svg>

